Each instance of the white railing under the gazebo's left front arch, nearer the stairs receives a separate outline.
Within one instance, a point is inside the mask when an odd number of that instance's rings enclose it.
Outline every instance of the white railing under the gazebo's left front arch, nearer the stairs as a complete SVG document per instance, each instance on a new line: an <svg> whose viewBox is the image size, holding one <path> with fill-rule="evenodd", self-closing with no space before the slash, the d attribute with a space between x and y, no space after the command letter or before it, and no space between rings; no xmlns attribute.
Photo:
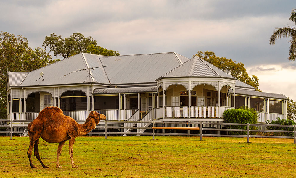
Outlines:
<svg viewBox="0 0 296 178"><path fill-rule="evenodd" d="M188 117L188 106L165 106L165 118Z"/></svg>

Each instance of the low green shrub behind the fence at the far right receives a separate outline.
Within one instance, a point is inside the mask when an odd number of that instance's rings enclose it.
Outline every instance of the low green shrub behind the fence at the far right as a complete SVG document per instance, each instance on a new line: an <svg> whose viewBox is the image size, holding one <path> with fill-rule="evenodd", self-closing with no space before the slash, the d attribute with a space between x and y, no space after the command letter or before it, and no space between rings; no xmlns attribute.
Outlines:
<svg viewBox="0 0 296 178"><path fill-rule="evenodd" d="M269 120L268 120L269 122ZM268 124L266 122L266 124ZM274 125L295 125L296 123L293 120L290 119L281 119L280 117L277 117L276 120L271 121L270 124ZM267 130L290 130L294 131L294 127L278 127L278 126L269 126L267 127ZM273 136L288 136L292 137L294 136L294 133L283 133L283 132L272 132Z"/></svg>

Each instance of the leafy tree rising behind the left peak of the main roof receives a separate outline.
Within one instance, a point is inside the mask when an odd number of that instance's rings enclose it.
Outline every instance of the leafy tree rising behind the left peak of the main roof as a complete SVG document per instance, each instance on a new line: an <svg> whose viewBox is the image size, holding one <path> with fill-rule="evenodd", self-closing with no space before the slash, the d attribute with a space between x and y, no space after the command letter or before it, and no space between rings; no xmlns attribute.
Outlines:
<svg viewBox="0 0 296 178"><path fill-rule="evenodd" d="M118 51L112 51L97 46L96 40L92 37L84 37L81 33L73 33L69 38L62 38L55 33L45 37L42 45L45 50L53 52L54 56L62 56L64 59L75 54L84 52L91 54L100 54L105 56L118 56Z"/></svg>

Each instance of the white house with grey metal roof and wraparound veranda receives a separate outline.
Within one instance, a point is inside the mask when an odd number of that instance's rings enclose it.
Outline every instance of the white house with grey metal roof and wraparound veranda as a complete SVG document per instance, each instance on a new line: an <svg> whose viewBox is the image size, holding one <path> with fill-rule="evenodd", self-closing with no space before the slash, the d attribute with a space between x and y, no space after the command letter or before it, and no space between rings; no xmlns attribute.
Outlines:
<svg viewBox="0 0 296 178"><path fill-rule="evenodd" d="M257 92L197 56L174 52L80 53L32 72L9 72L7 95L8 119L33 120L46 106L78 122L91 110L107 120L223 122L223 111L243 105L258 111L261 123L287 115L286 96Z"/></svg>

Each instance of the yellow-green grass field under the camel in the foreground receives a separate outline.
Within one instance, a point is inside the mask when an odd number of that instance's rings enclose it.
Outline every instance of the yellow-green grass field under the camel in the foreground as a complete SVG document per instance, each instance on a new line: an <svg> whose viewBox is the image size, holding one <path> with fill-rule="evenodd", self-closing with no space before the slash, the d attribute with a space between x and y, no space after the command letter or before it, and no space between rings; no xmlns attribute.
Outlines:
<svg viewBox="0 0 296 178"><path fill-rule="evenodd" d="M55 168L58 144L40 139L43 169L28 137L0 137L0 177L295 177L291 139L203 137L77 137L71 168L68 142Z"/></svg>

